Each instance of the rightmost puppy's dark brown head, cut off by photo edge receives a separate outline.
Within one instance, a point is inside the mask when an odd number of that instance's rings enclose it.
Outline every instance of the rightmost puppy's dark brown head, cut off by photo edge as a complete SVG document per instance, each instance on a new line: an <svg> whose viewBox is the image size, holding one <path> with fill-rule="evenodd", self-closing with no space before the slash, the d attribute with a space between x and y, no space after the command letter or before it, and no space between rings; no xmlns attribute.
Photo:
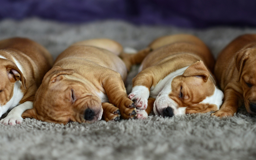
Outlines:
<svg viewBox="0 0 256 160"><path fill-rule="evenodd" d="M238 80L243 88L244 105L248 113L256 114L256 45L235 55Z"/></svg>

